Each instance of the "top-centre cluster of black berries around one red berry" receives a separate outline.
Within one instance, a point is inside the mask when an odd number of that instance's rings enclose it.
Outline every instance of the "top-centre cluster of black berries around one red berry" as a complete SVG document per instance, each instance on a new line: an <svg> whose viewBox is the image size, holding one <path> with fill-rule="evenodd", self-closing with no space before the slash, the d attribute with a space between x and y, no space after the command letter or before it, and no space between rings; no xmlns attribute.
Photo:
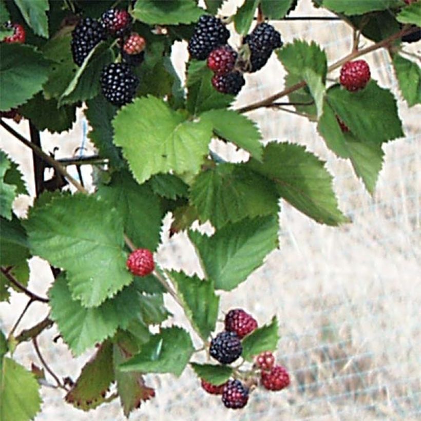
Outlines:
<svg viewBox="0 0 421 421"><path fill-rule="evenodd" d="M222 93L236 95L245 84L243 72L255 72L269 60L272 51L282 46L281 35L272 25L258 24L244 37L240 51L246 50L246 60L227 44L229 31L220 19L203 15L188 42L190 57L207 59L207 66L214 72L212 85ZM241 57L240 57L241 55Z"/></svg>

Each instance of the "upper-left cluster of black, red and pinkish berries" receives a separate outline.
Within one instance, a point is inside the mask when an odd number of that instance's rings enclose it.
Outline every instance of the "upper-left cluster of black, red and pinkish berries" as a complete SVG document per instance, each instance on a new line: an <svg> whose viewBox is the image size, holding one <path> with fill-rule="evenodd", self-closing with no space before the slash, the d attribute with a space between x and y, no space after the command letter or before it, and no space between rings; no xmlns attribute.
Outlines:
<svg viewBox="0 0 421 421"><path fill-rule="evenodd" d="M73 61L81 66L92 49L108 36L119 39L122 63L111 63L101 74L104 97L113 105L122 106L135 98L139 78L132 67L142 63L145 40L131 32L132 19L126 10L109 9L99 21L85 17L72 31Z"/></svg>

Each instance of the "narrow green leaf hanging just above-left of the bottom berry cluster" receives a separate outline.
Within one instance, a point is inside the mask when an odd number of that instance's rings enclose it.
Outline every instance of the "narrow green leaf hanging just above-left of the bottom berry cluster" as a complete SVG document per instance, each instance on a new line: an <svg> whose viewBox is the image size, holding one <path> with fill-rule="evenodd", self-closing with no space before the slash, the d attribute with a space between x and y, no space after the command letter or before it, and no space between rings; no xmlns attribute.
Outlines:
<svg viewBox="0 0 421 421"><path fill-rule="evenodd" d="M190 322L201 338L207 340L210 332L214 331L218 318L219 297L215 295L214 283L197 276L187 276L183 272L171 271L169 277L177 289L177 295L183 302Z"/></svg>

